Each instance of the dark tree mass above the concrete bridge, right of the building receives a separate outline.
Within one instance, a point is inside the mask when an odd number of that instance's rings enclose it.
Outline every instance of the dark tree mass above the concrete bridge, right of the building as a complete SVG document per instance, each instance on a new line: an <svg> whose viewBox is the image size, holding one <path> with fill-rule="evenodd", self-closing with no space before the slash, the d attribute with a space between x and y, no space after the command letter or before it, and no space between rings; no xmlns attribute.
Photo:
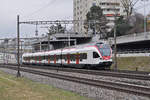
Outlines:
<svg viewBox="0 0 150 100"><path fill-rule="evenodd" d="M127 19L123 18L123 16L119 17L116 20L116 34L117 36L127 35L127 34L135 34L143 32L143 20L144 16L135 13L132 16L129 16ZM113 29L108 34L109 37L113 37Z"/></svg>

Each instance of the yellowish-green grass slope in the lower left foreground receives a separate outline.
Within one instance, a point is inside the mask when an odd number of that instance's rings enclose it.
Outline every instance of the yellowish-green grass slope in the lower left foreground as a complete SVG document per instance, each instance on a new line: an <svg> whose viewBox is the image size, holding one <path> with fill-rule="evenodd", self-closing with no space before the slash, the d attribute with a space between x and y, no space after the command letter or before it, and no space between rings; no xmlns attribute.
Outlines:
<svg viewBox="0 0 150 100"><path fill-rule="evenodd" d="M0 100L90 100L78 94L0 71Z"/></svg>

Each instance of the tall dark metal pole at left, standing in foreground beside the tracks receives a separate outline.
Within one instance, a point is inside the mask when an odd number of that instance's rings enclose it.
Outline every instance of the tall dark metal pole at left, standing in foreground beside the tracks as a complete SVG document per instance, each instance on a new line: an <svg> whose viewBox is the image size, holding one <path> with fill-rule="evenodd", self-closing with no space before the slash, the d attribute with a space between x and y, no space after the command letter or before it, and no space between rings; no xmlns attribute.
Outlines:
<svg viewBox="0 0 150 100"><path fill-rule="evenodd" d="M18 44L18 55L17 55L17 60L18 60L18 72L17 72L17 77L20 77L21 74L20 74L20 52L19 52L19 49L20 49L20 27L19 27L19 15L17 15L17 44Z"/></svg>

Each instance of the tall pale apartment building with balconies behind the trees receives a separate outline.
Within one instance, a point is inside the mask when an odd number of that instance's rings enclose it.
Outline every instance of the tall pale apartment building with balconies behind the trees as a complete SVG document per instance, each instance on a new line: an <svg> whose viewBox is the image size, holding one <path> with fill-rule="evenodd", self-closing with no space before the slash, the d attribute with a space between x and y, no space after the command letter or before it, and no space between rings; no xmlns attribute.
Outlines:
<svg viewBox="0 0 150 100"><path fill-rule="evenodd" d="M86 20L86 14L92 6L100 6L103 14L106 16L109 23L107 24L110 29L114 26L114 15L125 15L123 6L120 0L74 0L73 2L73 19ZM74 24L74 31L78 33L85 33L84 23L81 21Z"/></svg>

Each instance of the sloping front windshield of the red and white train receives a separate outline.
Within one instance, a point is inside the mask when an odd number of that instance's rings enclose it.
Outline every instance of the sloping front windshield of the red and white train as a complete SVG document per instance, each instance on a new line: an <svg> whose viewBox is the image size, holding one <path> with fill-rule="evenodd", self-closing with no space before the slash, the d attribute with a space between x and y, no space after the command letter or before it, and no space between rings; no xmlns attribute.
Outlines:
<svg viewBox="0 0 150 100"><path fill-rule="evenodd" d="M98 49L102 56L110 56L111 55L111 48L107 44L98 44Z"/></svg>

